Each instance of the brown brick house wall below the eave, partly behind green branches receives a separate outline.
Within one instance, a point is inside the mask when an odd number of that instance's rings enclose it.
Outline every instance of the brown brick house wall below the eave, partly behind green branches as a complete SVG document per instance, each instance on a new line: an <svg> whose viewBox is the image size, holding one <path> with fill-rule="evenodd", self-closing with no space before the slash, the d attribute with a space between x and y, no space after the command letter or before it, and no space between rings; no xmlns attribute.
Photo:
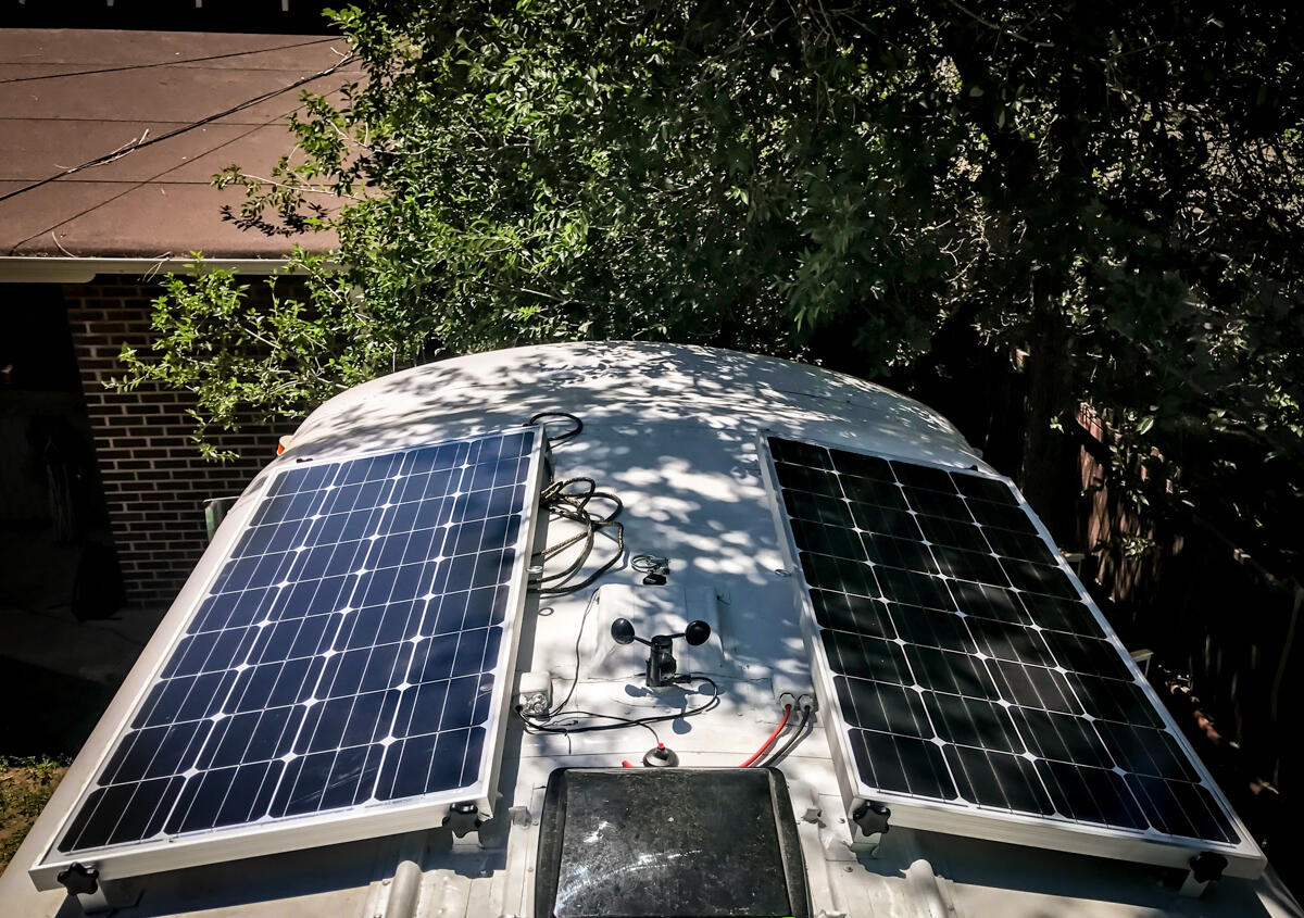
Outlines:
<svg viewBox="0 0 1304 918"><path fill-rule="evenodd" d="M158 293L137 278L98 276L64 287L113 542L133 604L172 600L206 544L203 502L243 492L274 458L279 433L288 433L256 425L215 436L240 459L211 463L190 439L189 395L156 386L104 387L123 373L117 353L124 343L149 344L150 300Z"/></svg>

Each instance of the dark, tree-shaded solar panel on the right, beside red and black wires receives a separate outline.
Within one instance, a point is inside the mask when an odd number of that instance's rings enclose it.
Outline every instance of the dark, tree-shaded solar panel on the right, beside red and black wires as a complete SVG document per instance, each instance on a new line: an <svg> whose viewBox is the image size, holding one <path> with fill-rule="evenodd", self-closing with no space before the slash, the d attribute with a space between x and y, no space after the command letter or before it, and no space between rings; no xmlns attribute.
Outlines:
<svg viewBox="0 0 1304 918"><path fill-rule="evenodd" d="M1264 857L1013 485L768 437L849 808L1257 875ZM1017 827L1017 828L1016 828Z"/></svg>

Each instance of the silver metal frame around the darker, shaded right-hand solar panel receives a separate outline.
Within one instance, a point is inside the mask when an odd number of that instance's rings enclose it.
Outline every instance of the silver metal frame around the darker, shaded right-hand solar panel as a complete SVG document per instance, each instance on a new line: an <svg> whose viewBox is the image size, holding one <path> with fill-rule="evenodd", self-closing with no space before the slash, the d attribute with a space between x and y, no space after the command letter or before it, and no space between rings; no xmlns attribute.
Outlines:
<svg viewBox="0 0 1304 918"><path fill-rule="evenodd" d="M1200 775L1201 782L1211 793L1215 803L1221 806L1223 812L1228 816L1232 827L1241 838L1240 844L1230 845L1210 840L1187 838L1184 836L1166 835L1154 829L1136 831L1110 828L1097 823L1082 823L1064 818L1038 818L1026 814L998 810L994 807L985 807L975 803L960 805L948 801L913 797L910 794L880 790L865 784L861 780L859 771L855 767L855 759L852 755L849 741L850 728L844 720L841 705L838 704L837 690L833 685L833 670L828 664L827 655L824 653L824 644L819 639L820 626L815 619L815 608L811 602L810 584L806 582L806 575L798 558L797 542L794 540L792 526L788 520L788 512L784 507L780 493L778 476L775 469L775 458L769 451L769 437L790 439L799 443L810 443L812 446L823 446L831 450L842 450L846 452L857 452L859 455L876 456L879 459L910 463L914 466L926 466L948 472L979 475L1009 486L1011 492L1018 498L1018 506L1024 509L1029 519L1033 520L1037 533L1054 550L1055 559L1060 570L1068 574L1071 582L1077 588L1078 599L1086 604L1088 609L1090 609L1091 614L1095 617L1097 623L1099 623L1103 629L1107 640L1114 644L1115 649L1119 651L1123 660L1127 662L1128 670L1132 673L1133 682L1141 687L1146 699L1159 712L1163 725L1176 738L1183 752ZM788 434L780 430L762 430L756 438L756 451L760 459L762 479L764 480L764 488L769 501L771 512L775 519L775 527L778 532L780 549L782 550L784 561L788 569L792 571L789 582L798 593L797 602L801 610L799 617L802 625L802 639L806 643L806 652L811 665L811 682L815 686L815 695L820 705L819 716L825 720L824 733L829 739L829 751L833 758L833 771L837 773L838 789L842 794L842 805L846 810L849 823L852 823L850 814L857 810L861 803L872 801L891 807L892 816L889 823L905 825L908 828L944 832L948 835L960 835L1015 845L1028 845L1074 854L1089 854L1119 861L1149 863L1159 867L1178 867L1181 870L1188 870L1191 867L1191 858L1196 854L1200 854L1201 851L1214 851L1227 858L1227 868L1224 872L1228 876L1257 879L1264 872L1267 858L1264 855L1262 850L1260 850L1258 845L1253 840L1253 836L1236 815L1236 811L1232 810L1231 805L1227 802L1222 789L1213 780L1208 768L1205 768L1204 762L1201 762L1191 743L1187 742L1187 737L1179 729L1176 721L1174 721L1172 716L1168 713L1168 709L1159 700L1154 688L1145 679L1136 662L1128 655L1127 648L1123 647L1118 635L1114 634L1114 629L1101 613L1101 609L1091 600L1091 596L1086 592L1082 582L1068 566L1068 562L1064 559L1059 546L1055 544L1055 540L1046 529L1046 526L1037 516L1031 506L1029 506L1028 501L1024 498L1018 488L1015 486L1015 482L1011 479L998 475L985 467L964 466L960 463L945 463L935 459L921 459L918 456L906 456L893 452L854 449L848 443L814 439L811 437Z"/></svg>

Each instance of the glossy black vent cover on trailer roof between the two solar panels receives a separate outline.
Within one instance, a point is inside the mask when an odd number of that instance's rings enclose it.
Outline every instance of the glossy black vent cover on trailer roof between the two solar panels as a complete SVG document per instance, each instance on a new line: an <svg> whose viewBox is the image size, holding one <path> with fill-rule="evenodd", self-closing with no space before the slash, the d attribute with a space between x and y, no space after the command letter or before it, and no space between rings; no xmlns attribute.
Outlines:
<svg viewBox="0 0 1304 918"><path fill-rule="evenodd" d="M558 768L535 876L540 918L810 915L775 768Z"/></svg>

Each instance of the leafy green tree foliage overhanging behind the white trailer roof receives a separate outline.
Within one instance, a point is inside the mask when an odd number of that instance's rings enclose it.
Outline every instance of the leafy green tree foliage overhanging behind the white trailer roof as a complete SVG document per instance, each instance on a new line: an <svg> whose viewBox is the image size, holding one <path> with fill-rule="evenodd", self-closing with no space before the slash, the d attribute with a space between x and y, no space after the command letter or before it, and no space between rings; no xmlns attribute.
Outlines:
<svg viewBox="0 0 1304 918"><path fill-rule="evenodd" d="M962 326L1029 355L1026 455L1089 402L1116 468L1148 467L1138 502L1240 481L1236 514L1267 526L1300 497L1294 9L393 0L334 18L365 80L305 96L270 176L216 181L246 188L246 223L338 252L299 253L301 288L270 300L171 279L126 385L186 386L226 424L441 353L672 339L874 376ZM310 209L322 192L339 206Z"/></svg>

